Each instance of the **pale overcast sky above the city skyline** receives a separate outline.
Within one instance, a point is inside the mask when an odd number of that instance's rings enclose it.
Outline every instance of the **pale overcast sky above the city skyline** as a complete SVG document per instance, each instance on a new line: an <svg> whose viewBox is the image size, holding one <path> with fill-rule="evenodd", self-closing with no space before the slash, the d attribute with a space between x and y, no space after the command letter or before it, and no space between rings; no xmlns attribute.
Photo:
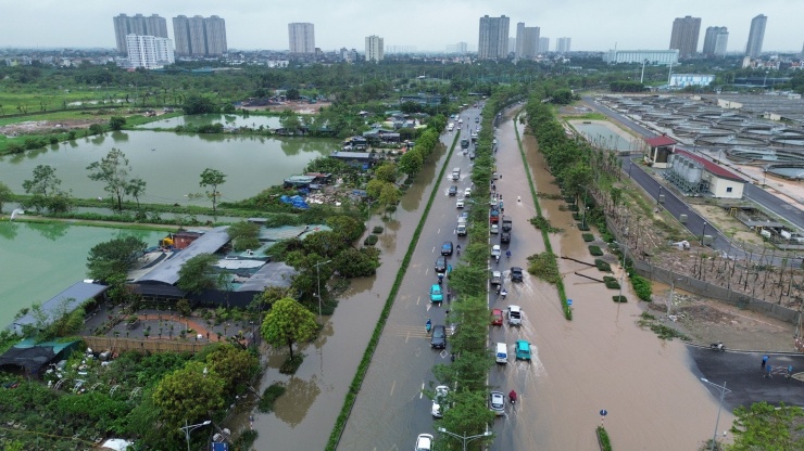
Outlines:
<svg viewBox="0 0 804 451"><path fill-rule="evenodd" d="M751 18L768 16L764 51L801 51L803 0L0 0L0 47L114 48L112 17L124 13L172 17L216 14L226 21L230 49L287 50L288 23L315 25L323 50L364 51L365 37L385 38L386 49L443 51L467 42L477 49L479 17L505 15L541 27L541 36L570 37L571 50L667 49L673 20L701 17L698 50L706 27L729 29L728 51L744 51Z"/></svg>

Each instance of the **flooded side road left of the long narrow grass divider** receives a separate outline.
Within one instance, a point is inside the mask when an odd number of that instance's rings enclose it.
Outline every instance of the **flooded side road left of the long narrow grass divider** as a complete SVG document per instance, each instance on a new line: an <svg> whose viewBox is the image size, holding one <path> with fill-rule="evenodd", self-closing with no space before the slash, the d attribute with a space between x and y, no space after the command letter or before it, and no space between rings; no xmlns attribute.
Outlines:
<svg viewBox="0 0 804 451"><path fill-rule="evenodd" d="M448 138L451 143L451 137ZM287 347L272 349L268 353L268 369L257 389L262 394L271 384L281 383L287 391L276 401L274 412L252 413L254 429L259 433L254 449L325 448L349 384L427 204L436 170L440 170L444 164L445 155L445 147L439 147L434 153L402 197L395 212L386 219L375 215L367 222L368 231L374 226L385 228L377 243L382 250L382 265L372 278L351 280L332 317L324 317L325 327L321 336L314 343L299 346L299 351L305 355L299 371L290 376L279 373L279 366L287 357ZM244 418L248 420L248 415ZM236 423L241 424L240 427L248 427L248 421L242 418Z"/></svg>

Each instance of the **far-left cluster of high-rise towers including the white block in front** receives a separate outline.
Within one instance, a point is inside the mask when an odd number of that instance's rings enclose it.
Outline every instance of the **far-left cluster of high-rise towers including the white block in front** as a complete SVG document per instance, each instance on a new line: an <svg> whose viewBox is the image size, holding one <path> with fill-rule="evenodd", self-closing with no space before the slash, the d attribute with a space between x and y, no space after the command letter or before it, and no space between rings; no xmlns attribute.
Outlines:
<svg viewBox="0 0 804 451"><path fill-rule="evenodd" d="M128 54L131 67L154 68L174 62L164 17L121 14L113 21L117 51ZM219 56L227 52L226 22L216 15L173 17L173 36L178 55Z"/></svg>

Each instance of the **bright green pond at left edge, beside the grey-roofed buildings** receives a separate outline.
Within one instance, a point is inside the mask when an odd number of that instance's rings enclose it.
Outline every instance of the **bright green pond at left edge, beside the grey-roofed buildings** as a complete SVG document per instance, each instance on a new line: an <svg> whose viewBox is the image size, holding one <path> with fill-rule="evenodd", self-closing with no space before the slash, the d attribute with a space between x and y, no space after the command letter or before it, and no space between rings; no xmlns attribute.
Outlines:
<svg viewBox="0 0 804 451"><path fill-rule="evenodd" d="M155 246L165 232L0 221L0 327L86 279L92 246L129 235Z"/></svg>

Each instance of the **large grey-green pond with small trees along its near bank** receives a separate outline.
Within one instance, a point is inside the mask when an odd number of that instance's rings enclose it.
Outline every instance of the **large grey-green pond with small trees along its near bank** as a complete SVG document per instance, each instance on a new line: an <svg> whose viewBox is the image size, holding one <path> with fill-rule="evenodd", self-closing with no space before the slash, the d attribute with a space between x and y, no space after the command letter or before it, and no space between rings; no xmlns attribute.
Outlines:
<svg viewBox="0 0 804 451"><path fill-rule="evenodd" d="M340 141L315 138L266 138L235 134L181 134L159 131L116 131L81 138L48 149L0 157L0 180L15 193L32 178L37 165L56 168L63 190L77 197L108 197L102 182L87 178L87 166L103 158L112 147L126 154L131 173L147 183L140 202L153 204L208 205L201 172L213 168L227 175L218 188L222 201L240 201L281 184L301 173L312 159L337 151Z"/></svg>

